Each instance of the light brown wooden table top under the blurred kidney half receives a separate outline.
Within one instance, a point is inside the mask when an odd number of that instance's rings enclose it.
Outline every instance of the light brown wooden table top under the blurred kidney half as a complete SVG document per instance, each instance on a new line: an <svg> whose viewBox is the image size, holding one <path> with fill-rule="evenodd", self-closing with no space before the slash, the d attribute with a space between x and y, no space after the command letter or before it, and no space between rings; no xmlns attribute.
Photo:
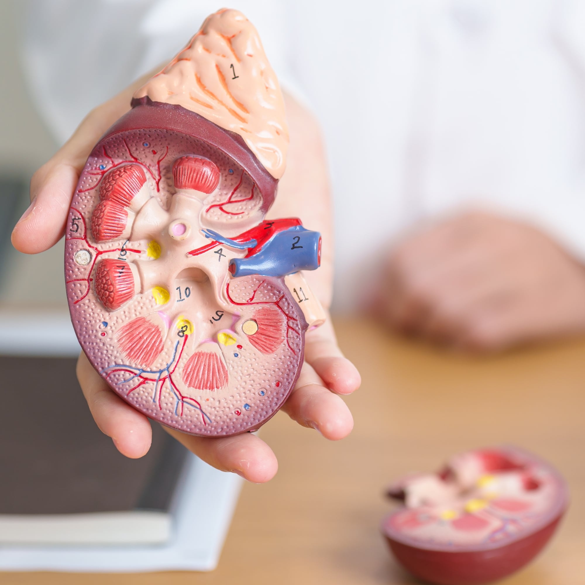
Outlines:
<svg viewBox="0 0 585 585"><path fill-rule="evenodd" d="M339 341L362 372L347 402L355 429L341 442L278 414L262 431L280 461L270 483L246 484L212 573L105 577L0 574L2 584L402 585L418 581L390 558L378 525L383 488L436 469L459 450L515 443L569 481L569 513L539 558L504 585L585 583L585 340L469 358L339 321Z"/></svg>

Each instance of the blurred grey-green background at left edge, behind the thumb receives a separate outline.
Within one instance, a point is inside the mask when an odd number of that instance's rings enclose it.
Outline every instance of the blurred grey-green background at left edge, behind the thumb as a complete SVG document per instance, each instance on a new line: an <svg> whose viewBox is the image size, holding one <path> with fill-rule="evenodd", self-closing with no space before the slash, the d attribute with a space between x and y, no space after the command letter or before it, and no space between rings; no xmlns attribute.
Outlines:
<svg viewBox="0 0 585 585"><path fill-rule="evenodd" d="M0 2L0 78L4 86L0 92L0 307L4 310L31 301L66 306L63 242L37 256L16 252L10 244L12 226L29 204L30 176L57 149L29 97L20 65L26 5L15 0Z"/></svg>

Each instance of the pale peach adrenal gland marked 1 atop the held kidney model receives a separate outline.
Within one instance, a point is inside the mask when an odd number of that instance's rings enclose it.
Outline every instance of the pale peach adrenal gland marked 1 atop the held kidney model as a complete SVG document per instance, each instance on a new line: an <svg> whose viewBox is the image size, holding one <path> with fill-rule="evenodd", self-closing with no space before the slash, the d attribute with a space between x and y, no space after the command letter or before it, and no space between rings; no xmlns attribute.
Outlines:
<svg viewBox="0 0 585 585"><path fill-rule="evenodd" d="M178 104L242 136L260 163L283 176L288 128L283 95L252 23L220 10L134 97Z"/></svg>

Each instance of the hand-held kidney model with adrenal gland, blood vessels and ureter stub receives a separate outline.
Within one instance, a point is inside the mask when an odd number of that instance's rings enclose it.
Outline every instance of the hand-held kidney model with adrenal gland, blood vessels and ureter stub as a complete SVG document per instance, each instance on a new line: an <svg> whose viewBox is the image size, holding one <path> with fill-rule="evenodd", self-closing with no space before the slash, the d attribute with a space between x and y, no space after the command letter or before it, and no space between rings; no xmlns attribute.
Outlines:
<svg viewBox="0 0 585 585"><path fill-rule="evenodd" d="M66 226L71 319L124 400L180 431L259 428L300 373L324 314L299 219L265 219L288 146L253 25L209 16L95 145Z"/></svg>

